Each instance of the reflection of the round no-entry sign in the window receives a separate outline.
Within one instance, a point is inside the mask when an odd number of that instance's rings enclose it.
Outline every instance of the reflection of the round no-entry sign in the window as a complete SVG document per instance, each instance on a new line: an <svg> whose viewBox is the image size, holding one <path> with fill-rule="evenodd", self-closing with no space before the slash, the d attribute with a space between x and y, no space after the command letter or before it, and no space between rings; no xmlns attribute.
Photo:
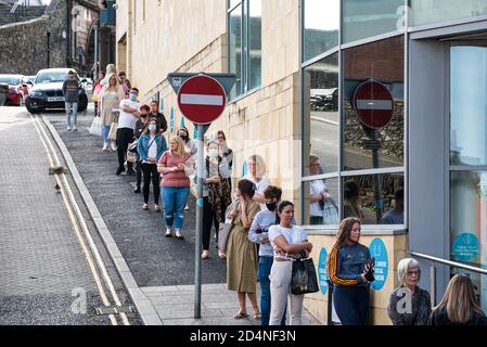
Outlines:
<svg viewBox="0 0 487 347"><path fill-rule="evenodd" d="M382 129L394 116L394 99L381 82L368 80L357 87L353 106L360 120L372 129Z"/></svg>

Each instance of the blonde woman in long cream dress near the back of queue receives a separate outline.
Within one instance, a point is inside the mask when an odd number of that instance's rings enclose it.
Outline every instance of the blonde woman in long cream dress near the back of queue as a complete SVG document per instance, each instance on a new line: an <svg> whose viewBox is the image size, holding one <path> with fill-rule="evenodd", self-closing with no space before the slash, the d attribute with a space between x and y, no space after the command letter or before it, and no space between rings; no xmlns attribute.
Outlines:
<svg viewBox="0 0 487 347"><path fill-rule="evenodd" d="M118 115L114 110L119 107L120 101L124 99L124 91L118 83L118 79L115 74L107 76L108 83L105 85L100 92L100 120L103 125L103 151L108 151L108 145L112 145L112 150L116 151L117 146L115 141L108 139L110 127L112 123L116 123Z"/></svg>

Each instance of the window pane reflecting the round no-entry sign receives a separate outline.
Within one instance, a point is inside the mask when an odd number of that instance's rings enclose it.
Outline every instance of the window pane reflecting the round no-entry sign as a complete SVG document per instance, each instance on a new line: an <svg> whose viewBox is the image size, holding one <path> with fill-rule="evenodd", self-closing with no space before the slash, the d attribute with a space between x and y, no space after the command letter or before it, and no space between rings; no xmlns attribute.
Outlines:
<svg viewBox="0 0 487 347"><path fill-rule="evenodd" d="M344 169L402 167L403 36L343 53Z"/></svg>

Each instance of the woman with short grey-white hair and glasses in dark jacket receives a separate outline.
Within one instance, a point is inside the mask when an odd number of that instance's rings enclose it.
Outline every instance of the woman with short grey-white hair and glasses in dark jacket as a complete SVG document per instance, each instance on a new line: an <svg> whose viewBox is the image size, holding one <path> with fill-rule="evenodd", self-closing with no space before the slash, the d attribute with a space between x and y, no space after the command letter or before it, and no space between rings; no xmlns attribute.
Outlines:
<svg viewBox="0 0 487 347"><path fill-rule="evenodd" d="M394 325L426 325L432 312L430 293L420 288L420 264L407 258L397 267L400 286L390 295L387 311Z"/></svg>

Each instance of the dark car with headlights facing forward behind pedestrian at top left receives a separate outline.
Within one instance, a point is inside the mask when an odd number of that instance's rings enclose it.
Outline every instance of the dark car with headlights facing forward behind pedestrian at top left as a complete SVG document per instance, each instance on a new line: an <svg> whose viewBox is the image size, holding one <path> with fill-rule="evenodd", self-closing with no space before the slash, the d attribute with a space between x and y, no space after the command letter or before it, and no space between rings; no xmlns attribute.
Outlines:
<svg viewBox="0 0 487 347"><path fill-rule="evenodd" d="M25 105L30 113L43 112L48 108L65 108L63 83L67 79L67 74L73 70L71 68L48 68L37 73L36 80ZM76 79L81 83L76 74ZM85 89L79 94L78 111L84 112L88 107L88 97Z"/></svg>

